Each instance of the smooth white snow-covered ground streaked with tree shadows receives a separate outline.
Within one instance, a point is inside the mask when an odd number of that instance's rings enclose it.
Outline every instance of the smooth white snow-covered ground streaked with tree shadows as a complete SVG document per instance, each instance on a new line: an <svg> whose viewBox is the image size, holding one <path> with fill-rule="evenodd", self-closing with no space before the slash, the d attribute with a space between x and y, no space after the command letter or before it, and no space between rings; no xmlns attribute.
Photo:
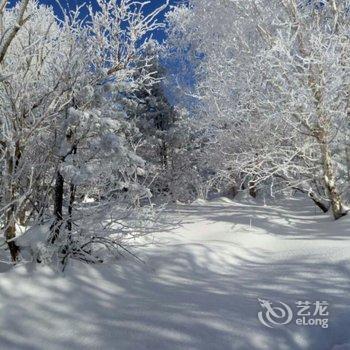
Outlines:
<svg viewBox="0 0 350 350"><path fill-rule="evenodd" d="M170 210L169 210L170 211ZM0 266L0 349L330 350L350 342L350 219L305 200L170 211L145 265ZM328 301L329 328L267 328L258 298ZM346 349L335 347L336 349Z"/></svg>

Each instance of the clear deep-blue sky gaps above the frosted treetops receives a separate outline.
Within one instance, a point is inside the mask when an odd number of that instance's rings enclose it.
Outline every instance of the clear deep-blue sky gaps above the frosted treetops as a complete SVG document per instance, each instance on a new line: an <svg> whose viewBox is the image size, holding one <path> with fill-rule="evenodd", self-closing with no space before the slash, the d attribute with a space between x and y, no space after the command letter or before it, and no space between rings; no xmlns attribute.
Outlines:
<svg viewBox="0 0 350 350"><path fill-rule="evenodd" d="M10 0L10 4L17 3L19 0ZM112 1L112 0L111 0ZM113 0L115 1L115 0ZM118 1L118 0L117 0ZM141 1L146 1L146 0L141 0ZM150 0L150 4L147 5L147 11L152 11L159 5L162 5L165 3L166 0ZM170 6L171 5L176 5L179 3L183 3L186 0L170 0ZM57 15L61 14L60 6L58 3L63 7L63 8L75 8L77 5L82 5L82 4L91 4L93 8L97 9L98 6L96 4L95 0L39 0L40 3L52 6L56 12ZM164 19L164 13L159 15L159 21L162 21ZM154 33L155 39L162 41L164 39L164 31L158 30Z"/></svg>

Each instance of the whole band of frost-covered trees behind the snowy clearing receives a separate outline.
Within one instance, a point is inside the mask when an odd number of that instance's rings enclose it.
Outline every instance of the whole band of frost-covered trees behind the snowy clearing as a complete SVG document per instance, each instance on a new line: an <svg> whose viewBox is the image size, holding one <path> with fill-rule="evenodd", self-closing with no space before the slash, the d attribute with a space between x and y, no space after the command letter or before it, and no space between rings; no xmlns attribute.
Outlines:
<svg viewBox="0 0 350 350"><path fill-rule="evenodd" d="M9 259L103 261L159 204L239 191L346 215L350 1L97 3L1 1Z"/></svg>

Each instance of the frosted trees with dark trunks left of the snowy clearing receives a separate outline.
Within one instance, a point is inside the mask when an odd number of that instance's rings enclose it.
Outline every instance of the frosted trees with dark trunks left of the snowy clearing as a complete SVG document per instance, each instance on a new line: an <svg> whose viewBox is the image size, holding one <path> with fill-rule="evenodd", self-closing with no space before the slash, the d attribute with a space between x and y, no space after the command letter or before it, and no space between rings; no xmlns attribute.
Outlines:
<svg viewBox="0 0 350 350"><path fill-rule="evenodd" d="M101 244L125 216L101 218L107 207L130 209L149 197L137 176L144 161L132 147L138 131L122 103L154 83L140 68L152 60L145 48L167 2L152 11L147 4L99 0L84 20L79 8L59 19L35 1L1 3L0 220L13 260L20 223L26 230L51 222L43 245L64 246L65 256L88 254L73 242L85 215L100 215L105 232L97 239L88 227L82 244ZM98 204L79 205L74 216L75 203L90 195Z"/></svg>

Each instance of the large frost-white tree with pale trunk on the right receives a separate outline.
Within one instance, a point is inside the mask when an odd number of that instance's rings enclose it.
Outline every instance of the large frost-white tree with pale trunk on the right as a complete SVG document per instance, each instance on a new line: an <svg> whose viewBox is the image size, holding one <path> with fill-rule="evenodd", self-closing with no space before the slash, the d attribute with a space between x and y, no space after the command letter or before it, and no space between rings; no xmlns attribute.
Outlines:
<svg viewBox="0 0 350 350"><path fill-rule="evenodd" d="M223 172L298 188L342 216L349 2L193 0L168 19Z"/></svg>

